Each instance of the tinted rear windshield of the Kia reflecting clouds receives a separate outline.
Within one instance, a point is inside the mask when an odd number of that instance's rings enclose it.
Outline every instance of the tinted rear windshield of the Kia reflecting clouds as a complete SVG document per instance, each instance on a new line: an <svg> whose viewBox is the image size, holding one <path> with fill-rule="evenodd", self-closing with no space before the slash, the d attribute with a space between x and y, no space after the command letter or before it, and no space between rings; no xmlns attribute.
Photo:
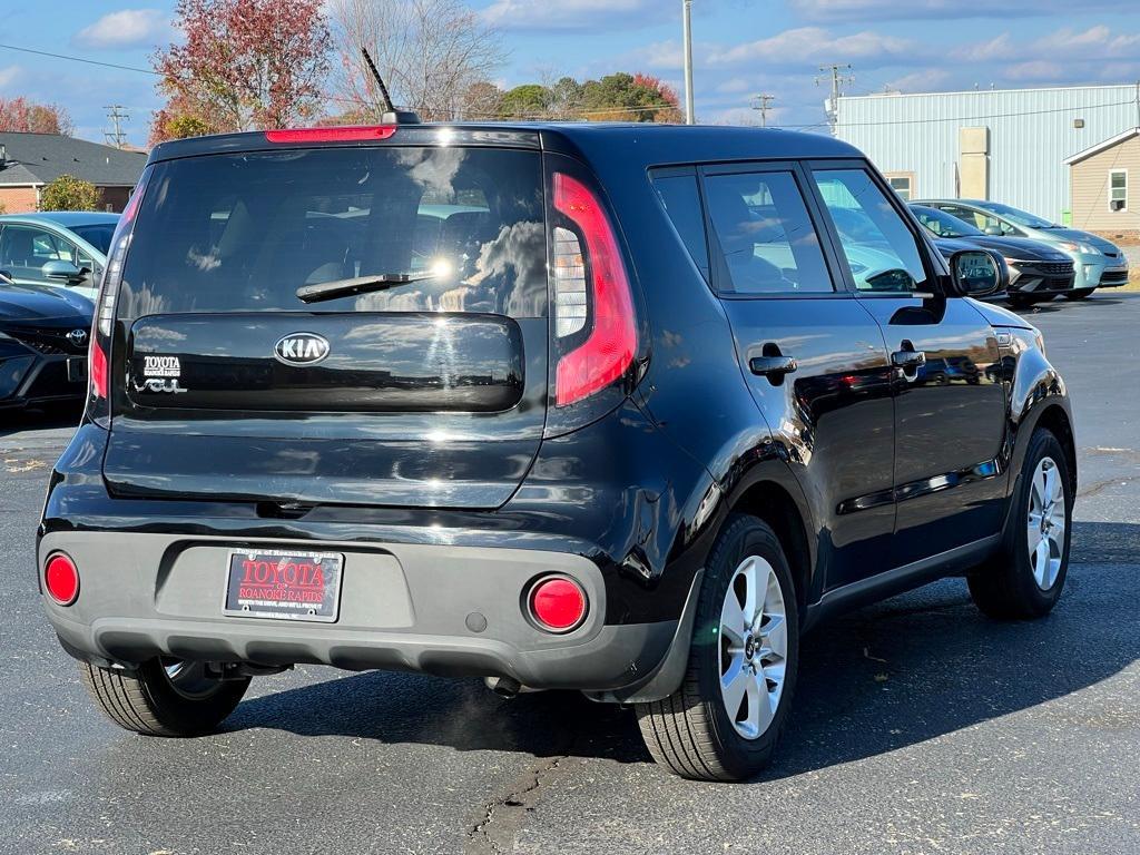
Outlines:
<svg viewBox="0 0 1140 855"><path fill-rule="evenodd" d="M158 163L119 316L229 311L546 314L540 155L324 148ZM303 285L427 276L304 303Z"/></svg>

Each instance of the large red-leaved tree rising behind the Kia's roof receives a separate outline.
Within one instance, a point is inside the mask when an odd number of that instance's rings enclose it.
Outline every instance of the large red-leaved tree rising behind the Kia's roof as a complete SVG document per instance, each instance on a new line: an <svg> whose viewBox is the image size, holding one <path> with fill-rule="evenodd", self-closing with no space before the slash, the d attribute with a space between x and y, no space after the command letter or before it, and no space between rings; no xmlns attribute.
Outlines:
<svg viewBox="0 0 1140 855"><path fill-rule="evenodd" d="M178 0L181 43L154 67L166 106L150 142L282 128L317 113L332 36L323 0Z"/></svg>

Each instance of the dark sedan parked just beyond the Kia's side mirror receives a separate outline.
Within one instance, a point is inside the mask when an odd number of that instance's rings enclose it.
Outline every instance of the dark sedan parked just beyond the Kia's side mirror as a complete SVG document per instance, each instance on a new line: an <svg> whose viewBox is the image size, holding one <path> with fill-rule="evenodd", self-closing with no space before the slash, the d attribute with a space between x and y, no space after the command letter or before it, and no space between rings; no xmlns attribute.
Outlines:
<svg viewBox="0 0 1140 855"><path fill-rule="evenodd" d="M1049 244L1027 237L993 237L937 207L912 203L911 210L936 241L962 239L1000 253L1009 269L1007 295L1016 307L1048 302L1073 288L1073 259Z"/></svg>

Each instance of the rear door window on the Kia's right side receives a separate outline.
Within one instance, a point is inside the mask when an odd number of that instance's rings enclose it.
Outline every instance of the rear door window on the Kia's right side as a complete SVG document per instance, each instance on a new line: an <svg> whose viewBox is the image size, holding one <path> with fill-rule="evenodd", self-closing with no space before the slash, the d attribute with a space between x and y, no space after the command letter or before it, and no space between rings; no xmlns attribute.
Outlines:
<svg viewBox="0 0 1140 855"><path fill-rule="evenodd" d="M819 236L791 172L709 176L705 189L720 250L722 292L834 291Z"/></svg>

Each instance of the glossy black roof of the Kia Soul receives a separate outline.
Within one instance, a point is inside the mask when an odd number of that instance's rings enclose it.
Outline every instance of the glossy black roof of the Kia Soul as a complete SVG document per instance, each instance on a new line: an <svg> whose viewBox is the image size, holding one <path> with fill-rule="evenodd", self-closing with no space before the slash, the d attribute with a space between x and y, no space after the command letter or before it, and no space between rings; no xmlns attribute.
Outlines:
<svg viewBox="0 0 1140 855"><path fill-rule="evenodd" d="M327 129L325 129L327 130ZM318 132L317 129L311 131ZM385 140L270 142L262 131L171 140L150 152L150 163L227 152L284 147L384 145L484 145L537 148L583 156L589 162L621 160L629 166L735 160L858 157L854 146L806 131L651 122L494 122L401 124Z"/></svg>

